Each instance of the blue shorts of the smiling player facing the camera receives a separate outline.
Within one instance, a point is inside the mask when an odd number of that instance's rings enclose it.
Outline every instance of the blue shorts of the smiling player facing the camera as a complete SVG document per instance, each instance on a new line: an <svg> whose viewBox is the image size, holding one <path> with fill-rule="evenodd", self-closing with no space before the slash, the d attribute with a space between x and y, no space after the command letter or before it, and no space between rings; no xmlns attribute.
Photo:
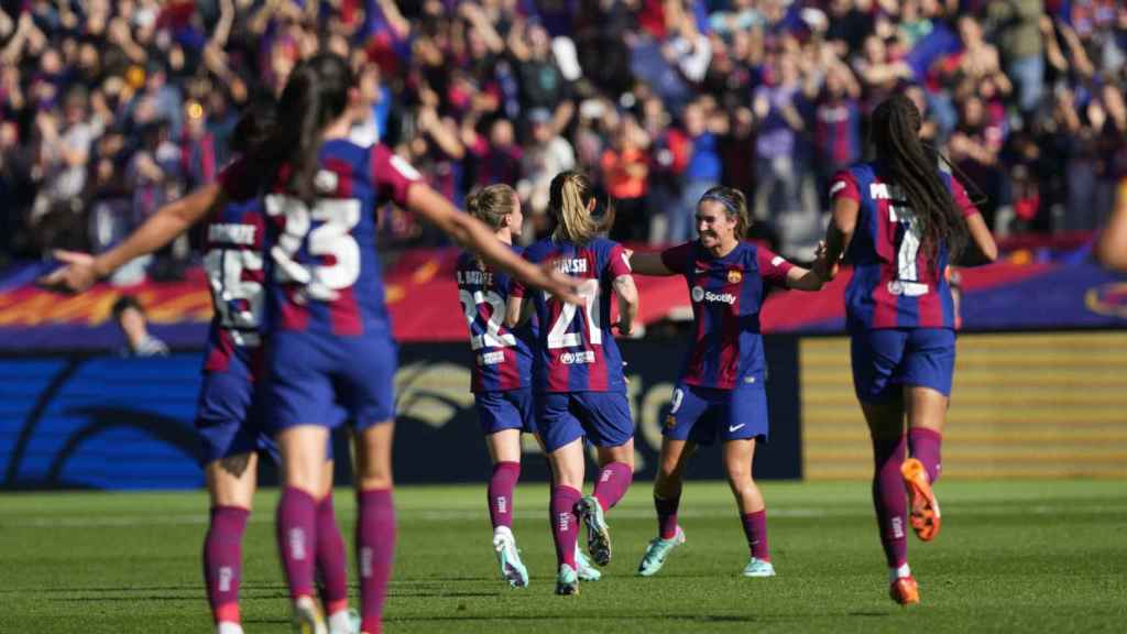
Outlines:
<svg viewBox="0 0 1127 634"><path fill-rule="evenodd" d="M696 444L767 439L767 391L762 385L716 389L678 382L662 435Z"/></svg>

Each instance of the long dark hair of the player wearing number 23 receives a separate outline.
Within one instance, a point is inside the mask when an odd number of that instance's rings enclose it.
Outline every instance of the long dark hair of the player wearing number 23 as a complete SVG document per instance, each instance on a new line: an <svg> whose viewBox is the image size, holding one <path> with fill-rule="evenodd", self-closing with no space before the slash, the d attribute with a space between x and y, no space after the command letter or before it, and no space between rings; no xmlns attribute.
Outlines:
<svg viewBox="0 0 1127 634"><path fill-rule="evenodd" d="M352 86L352 71L339 55L318 53L294 67L278 99L277 125L260 151L267 185L274 185L289 167L286 185L313 204L321 133L348 107Z"/></svg>

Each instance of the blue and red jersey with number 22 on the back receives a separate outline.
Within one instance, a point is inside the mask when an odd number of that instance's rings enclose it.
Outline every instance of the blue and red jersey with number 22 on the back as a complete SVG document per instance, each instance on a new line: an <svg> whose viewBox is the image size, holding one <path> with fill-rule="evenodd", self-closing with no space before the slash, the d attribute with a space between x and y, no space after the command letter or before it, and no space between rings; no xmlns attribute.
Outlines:
<svg viewBox="0 0 1127 634"><path fill-rule="evenodd" d="M520 247L511 248L520 255ZM482 265L472 253L459 256L454 275L473 350L470 389L508 391L532 385L530 344L535 332L531 322L518 328L505 327L509 276Z"/></svg>

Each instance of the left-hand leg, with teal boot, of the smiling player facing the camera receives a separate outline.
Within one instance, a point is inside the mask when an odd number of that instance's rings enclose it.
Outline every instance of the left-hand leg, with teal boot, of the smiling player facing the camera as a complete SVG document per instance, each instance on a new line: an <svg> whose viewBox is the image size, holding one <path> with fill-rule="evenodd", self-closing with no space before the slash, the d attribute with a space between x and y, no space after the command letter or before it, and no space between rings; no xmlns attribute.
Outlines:
<svg viewBox="0 0 1127 634"><path fill-rule="evenodd" d="M685 543L685 532L677 525L677 508L681 504L681 487L689 458L696 451L696 444L686 440L662 439L657 477L654 478L654 510L657 511L657 537L646 547L638 564L638 574L657 574L673 548Z"/></svg>

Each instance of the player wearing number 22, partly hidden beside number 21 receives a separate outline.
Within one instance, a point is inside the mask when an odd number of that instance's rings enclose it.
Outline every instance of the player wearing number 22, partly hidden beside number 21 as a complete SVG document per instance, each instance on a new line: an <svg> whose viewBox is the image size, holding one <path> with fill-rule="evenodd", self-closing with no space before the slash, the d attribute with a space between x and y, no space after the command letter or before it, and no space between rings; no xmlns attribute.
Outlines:
<svg viewBox="0 0 1127 634"><path fill-rule="evenodd" d="M511 245L523 224L521 199L508 185L490 185L465 200L467 211L485 222L497 239ZM532 352L535 329L506 328L505 305L508 300L508 275L486 266L478 255L467 252L458 258L458 294L470 331L470 347L474 353L472 390L481 431L494 470L489 478L487 502L494 528L494 551L502 576L513 588L529 584L529 572L521 562L513 536L513 488L521 477L521 432L536 435L532 408ZM579 576L597 581L601 573L576 552Z"/></svg>

